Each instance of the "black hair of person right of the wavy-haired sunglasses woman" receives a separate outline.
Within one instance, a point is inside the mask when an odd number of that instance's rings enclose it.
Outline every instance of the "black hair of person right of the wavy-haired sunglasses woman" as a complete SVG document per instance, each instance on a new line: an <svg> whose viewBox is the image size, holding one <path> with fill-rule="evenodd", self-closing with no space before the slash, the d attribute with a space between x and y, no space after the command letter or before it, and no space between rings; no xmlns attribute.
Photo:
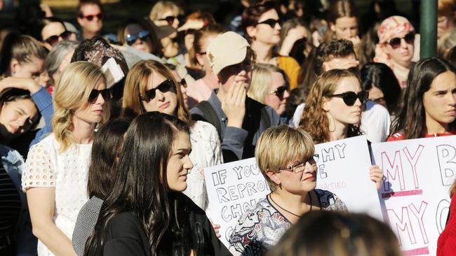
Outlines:
<svg viewBox="0 0 456 256"><path fill-rule="evenodd" d="M361 69L361 83L363 90L370 90L377 87L384 94L384 101L390 114L398 111L399 101L401 100L401 86L396 76L389 66L383 63L368 63Z"/></svg>

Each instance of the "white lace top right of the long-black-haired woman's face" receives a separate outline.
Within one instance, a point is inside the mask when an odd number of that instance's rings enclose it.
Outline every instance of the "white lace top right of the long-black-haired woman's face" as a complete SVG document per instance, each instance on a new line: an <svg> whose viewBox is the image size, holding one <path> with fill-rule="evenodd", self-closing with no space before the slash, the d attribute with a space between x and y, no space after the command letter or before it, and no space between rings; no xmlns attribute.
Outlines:
<svg viewBox="0 0 456 256"><path fill-rule="evenodd" d="M204 168L222 164L220 138L213 125L208 122L196 121L190 127L190 141L192 142L190 159L193 163L193 169L187 175L187 190L184 191L184 194L206 211L206 214L210 215L210 211L207 211L208 194L204 181Z"/></svg>

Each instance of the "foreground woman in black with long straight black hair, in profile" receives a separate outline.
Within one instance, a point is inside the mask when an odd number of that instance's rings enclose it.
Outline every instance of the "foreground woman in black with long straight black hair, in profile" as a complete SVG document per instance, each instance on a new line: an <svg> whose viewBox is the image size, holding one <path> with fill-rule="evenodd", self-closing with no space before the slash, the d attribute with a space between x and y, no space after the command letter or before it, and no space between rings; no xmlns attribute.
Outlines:
<svg viewBox="0 0 456 256"><path fill-rule="evenodd" d="M85 255L229 255L204 211L182 194L191 151L185 122L159 112L135 118Z"/></svg>

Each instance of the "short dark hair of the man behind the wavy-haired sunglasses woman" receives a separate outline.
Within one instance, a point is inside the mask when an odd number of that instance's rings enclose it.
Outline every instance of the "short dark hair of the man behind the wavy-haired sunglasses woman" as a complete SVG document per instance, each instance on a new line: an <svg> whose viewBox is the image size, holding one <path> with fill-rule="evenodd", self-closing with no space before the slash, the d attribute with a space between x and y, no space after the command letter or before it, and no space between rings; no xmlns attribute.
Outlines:
<svg viewBox="0 0 456 256"><path fill-rule="evenodd" d="M317 76L321 75L323 70L323 62L328 62L337 57L347 57L355 55L353 43L345 39L326 41L318 45L315 51L314 71Z"/></svg>

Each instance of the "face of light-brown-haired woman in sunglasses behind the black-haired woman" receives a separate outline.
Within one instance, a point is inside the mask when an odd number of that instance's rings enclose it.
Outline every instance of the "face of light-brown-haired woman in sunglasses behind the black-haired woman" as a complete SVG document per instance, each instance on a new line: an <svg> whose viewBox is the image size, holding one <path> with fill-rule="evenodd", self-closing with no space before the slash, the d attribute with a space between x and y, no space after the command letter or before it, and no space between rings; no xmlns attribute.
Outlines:
<svg viewBox="0 0 456 256"><path fill-rule="evenodd" d="M149 82L147 83L147 89L151 90L158 87L166 78L158 72L152 72L152 75L149 77ZM145 111L159 111L168 115L175 115L177 108L177 94L172 91L161 92L160 90L155 90L154 99L147 101L142 100L142 106L144 106Z"/></svg>

